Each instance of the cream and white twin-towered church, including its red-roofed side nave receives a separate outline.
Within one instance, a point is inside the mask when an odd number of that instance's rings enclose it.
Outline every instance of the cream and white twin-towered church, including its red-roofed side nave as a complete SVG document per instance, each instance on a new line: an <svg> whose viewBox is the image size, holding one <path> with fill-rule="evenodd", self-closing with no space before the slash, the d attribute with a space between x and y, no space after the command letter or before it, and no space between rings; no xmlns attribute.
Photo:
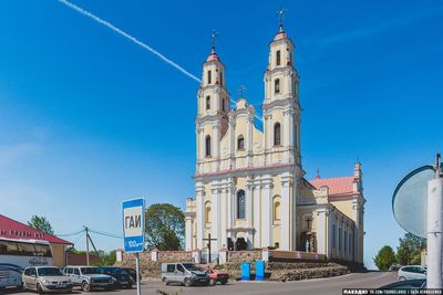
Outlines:
<svg viewBox="0 0 443 295"><path fill-rule="evenodd" d="M280 24L269 44L262 130L245 97L230 107L215 46L197 92L195 198L186 250L275 247L363 262L361 165L349 177L305 179L295 45ZM210 240L209 240L210 236Z"/></svg>

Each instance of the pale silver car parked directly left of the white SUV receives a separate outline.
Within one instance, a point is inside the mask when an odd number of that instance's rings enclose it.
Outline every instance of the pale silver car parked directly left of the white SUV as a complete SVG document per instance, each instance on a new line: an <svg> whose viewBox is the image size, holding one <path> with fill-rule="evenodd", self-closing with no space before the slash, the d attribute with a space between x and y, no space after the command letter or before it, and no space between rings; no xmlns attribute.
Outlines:
<svg viewBox="0 0 443 295"><path fill-rule="evenodd" d="M31 266L22 274L23 289L38 293L72 292L71 280L55 266Z"/></svg>

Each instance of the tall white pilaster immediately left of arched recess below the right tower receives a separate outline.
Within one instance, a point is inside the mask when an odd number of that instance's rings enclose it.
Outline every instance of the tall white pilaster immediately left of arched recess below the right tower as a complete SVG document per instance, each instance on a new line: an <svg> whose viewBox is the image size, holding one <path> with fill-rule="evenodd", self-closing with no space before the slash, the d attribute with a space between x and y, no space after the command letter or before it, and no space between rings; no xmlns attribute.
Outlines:
<svg viewBox="0 0 443 295"><path fill-rule="evenodd" d="M272 178L268 176L262 181L262 203L261 203L261 246L271 246L271 196Z"/></svg>

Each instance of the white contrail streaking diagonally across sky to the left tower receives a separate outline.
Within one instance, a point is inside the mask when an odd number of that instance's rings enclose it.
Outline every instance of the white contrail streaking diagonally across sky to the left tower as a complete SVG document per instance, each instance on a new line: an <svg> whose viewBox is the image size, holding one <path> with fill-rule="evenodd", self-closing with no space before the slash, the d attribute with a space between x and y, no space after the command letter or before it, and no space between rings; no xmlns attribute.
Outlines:
<svg viewBox="0 0 443 295"><path fill-rule="evenodd" d="M159 57L162 61L164 61L165 63L172 65L173 67L175 67L176 70L181 71L183 74L185 74L186 76L190 77L192 80L195 80L196 82L200 83L200 80L198 77L196 77L195 75L190 74L188 71L186 71L185 69L183 69L181 65L176 64L175 62L171 61L169 59L167 59L165 55L163 55L162 53L159 53L158 51L156 51L155 49L151 48L150 45L143 43L142 41L137 40L135 36L132 36L131 34L122 31L121 29L116 28L115 25L111 24L110 22L102 20L101 18L92 14L91 12L89 12L87 10L84 10L81 7L78 7L66 0L59 0L59 2L65 4L66 7L82 13L83 15L99 22L100 24L103 24L104 27L110 28L111 30L113 30L114 32L123 35L124 38L131 40L132 42L134 42L135 44L144 48L145 50L147 50L148 52L153 53L154 55L156 55L157 57Z"/></svg>

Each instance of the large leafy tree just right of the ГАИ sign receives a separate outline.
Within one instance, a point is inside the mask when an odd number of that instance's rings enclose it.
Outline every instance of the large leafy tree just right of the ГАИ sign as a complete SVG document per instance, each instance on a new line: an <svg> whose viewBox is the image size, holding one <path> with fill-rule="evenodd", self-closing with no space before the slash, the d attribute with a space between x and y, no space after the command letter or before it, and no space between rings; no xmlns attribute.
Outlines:
<svg viewBox="0 0 443 295"><path fill-rule="evenodd" d="M145 222L148 249L183 249L185 215L178 207L168 203L152 204L146 210Z"/></svg>

